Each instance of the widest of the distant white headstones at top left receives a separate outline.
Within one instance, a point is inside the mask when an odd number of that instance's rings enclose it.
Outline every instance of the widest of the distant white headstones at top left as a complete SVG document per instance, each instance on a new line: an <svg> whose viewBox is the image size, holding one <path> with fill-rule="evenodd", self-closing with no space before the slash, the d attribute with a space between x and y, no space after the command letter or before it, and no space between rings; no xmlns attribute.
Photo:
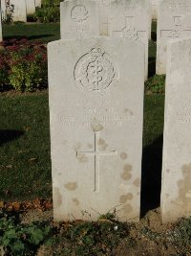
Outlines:
<svg viewBox="0 0 191 256"><path fill-rule="evenodd" d="M10 0L10 8L13 7L13 21L27 21L26 2L25 0Z"/></svg>

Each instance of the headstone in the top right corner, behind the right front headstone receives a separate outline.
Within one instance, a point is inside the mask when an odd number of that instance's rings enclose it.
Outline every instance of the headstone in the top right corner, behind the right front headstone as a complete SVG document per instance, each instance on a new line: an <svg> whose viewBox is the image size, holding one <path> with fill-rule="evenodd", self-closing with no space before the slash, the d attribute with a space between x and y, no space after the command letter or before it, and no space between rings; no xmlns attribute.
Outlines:
<svg viewBox="0 0 191 256"><path fill-rule="evenodd" d="M157 74L166 73L167 42L191 37L191 1L163 0L159 3Z"/></svg>

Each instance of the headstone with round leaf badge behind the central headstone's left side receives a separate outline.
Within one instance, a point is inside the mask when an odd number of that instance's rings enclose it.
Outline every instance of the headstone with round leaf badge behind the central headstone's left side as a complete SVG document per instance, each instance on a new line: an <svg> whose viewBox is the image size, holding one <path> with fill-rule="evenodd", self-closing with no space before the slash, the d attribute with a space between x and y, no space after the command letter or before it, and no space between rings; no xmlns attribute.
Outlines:
<svg viewBox="0 0 191 256"><path fill-rule="evenodd" d="M99 35L99 5L94 0L73 0L60 3L62 39Z"/></svg>

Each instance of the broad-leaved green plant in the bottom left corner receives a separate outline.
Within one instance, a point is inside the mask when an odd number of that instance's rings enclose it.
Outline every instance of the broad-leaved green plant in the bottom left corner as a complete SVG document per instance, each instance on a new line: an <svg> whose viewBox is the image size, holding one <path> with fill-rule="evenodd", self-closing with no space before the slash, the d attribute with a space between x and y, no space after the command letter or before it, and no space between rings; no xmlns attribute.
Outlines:
<svg viewBox="0 0 191 256"><path fill-rule="evenodd" d="M0 246L11 255L34 255L40 244L49 243L53 229L45 223L24 225L0 212Z"/></svg>

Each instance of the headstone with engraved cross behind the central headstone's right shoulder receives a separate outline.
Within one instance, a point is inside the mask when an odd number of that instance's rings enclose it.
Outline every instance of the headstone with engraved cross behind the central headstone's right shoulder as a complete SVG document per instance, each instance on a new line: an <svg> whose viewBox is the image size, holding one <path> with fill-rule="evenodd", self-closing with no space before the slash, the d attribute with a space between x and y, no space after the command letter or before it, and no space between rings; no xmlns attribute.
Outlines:
<svg viewBox="0 0 191 256"><path fill-rule="evenodd" d="M151 3L121 0L111 4L110 35L140 40L145 45L145 79L148 75L148 41L151 33Z"/></svg>

